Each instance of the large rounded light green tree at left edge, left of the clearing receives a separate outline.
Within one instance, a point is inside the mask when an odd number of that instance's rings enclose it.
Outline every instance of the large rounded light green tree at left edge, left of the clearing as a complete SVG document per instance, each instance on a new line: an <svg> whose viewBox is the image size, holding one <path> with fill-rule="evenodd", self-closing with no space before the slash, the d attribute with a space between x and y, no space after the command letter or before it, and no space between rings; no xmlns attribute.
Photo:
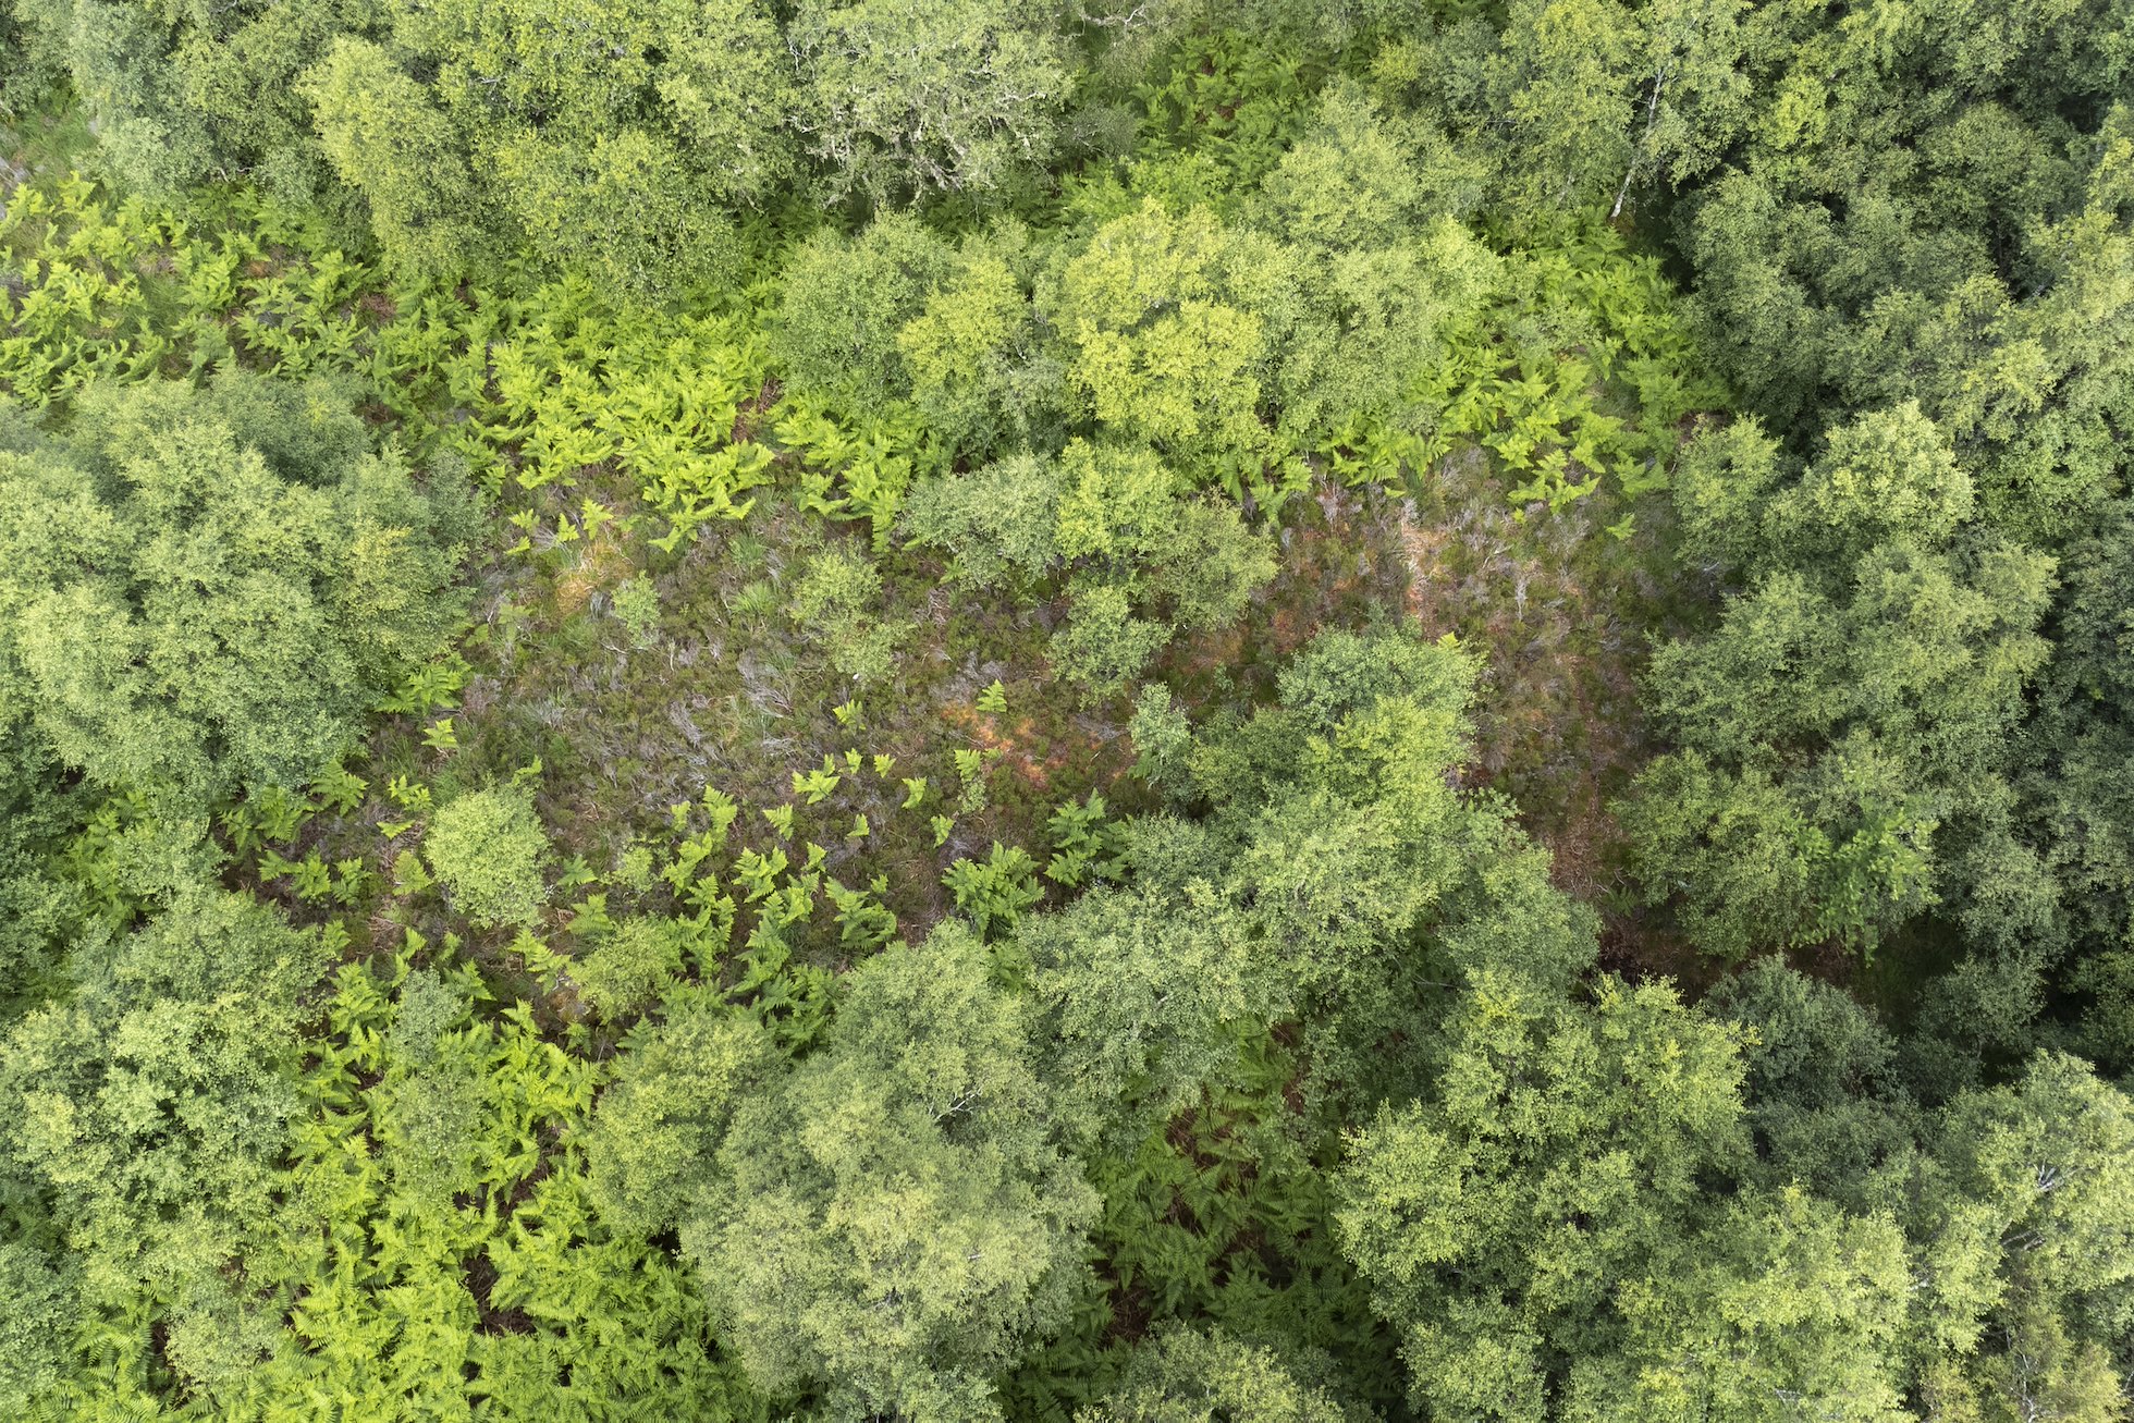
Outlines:
<svg viewBox="0 0 2134 1423"><path fill-rule="evenodd" d="M92 393L68 450L0 454L0 676L105 785L301 785L455 623L465 495L301 420L248 439L277 390Z"/></svg>

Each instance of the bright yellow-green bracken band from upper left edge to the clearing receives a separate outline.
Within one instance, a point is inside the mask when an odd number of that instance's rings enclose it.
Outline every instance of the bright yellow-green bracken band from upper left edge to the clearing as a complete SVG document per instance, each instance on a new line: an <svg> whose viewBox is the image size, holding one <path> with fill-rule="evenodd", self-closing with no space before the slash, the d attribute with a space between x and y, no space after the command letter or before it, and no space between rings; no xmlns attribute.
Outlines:
<svg viewBox="0 0 2134 1423"><path fill-rule="evenodd" d="M768 375L762 341L717 316L619 307L583 279L523 294L395 284L237 203L196 224L113 205L66 177L0 218L26 286L0 337L0 382L38 405L90 380L184 373L235 352L275 371L350 371L431 439L525 491L621 469L681 542L747 514L770 450L736 439ZM233 341L235 337L235 341ZM670 544L672 546L672 544Z"/></svg>

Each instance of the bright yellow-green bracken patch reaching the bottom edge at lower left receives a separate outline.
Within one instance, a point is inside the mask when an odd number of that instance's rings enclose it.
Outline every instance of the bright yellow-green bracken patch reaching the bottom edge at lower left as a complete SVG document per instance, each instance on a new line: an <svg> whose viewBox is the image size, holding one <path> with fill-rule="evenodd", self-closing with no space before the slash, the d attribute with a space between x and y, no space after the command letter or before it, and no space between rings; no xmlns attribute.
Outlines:
<svg viewBox="0 0 2134 1423"><path fill-rule="evenodd" d="M489 1001L469 964L348 966L303 1077L284 1235L254 1259L290 1342L216 1417L751 1417L698 1291L593 1212L600 1069Z"/></svg>

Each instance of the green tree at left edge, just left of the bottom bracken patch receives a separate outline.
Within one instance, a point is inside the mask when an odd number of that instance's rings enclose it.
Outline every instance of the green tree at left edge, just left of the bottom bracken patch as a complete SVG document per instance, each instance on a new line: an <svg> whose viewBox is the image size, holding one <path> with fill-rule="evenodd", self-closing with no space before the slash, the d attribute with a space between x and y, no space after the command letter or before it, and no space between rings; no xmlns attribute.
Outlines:
<svg viewBox="0 0 2134 1423"><path fill-rule="evenodd" d="M196 888L139 932L83 941L70 992L0 1039L0 1176L49 1212L79 1267L73 1308L162 1318L196 1382L273 1348L280 1310L245 1297L239 1257L273 1218L322 971L316 932ZM38 1308L68 1312L53 1289Z"/></svg>

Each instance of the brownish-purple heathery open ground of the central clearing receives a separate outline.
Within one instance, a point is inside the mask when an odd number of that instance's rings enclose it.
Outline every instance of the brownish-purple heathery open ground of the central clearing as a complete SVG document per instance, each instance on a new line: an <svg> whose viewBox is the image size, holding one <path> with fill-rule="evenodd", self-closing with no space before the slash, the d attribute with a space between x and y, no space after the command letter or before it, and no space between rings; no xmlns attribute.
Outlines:
<svg viewBox="0 0 2134 1423"><path fill-rule="evenodd" d="M455 717L459 745L427 749L420 725L395 719L373 742L373 779L427 777L448 794L538 764L559 853L602 877L711 785L743 806L736 847L822 845L843 883L886 881L903 934L947 913L941 873L954 860L1001 843L1041 862L1056 806L1090 794L1112 815L1157 804L1129 774L1131 700L1090 704L1048 672L1061 606L952 599L933 559L888 550L894 672L856 693L787 602L809 555L832 540L864 546L860 527L766 497L747 521L668 555L649 542L657 521L627 514L627 484L589 478L576 493L619 516L531 561L489 565L465 644L476 674ZM1470 787L1511 798L1554 853L1558 883L1603 911L1611 966L1688 977L1688 949L1618 896L1609 800L1645 753L1637 674L1667 617L1654 572L1667 561L1654 531L1607 533L1615 516L1605 495L1515 510L1475 452L1443 461L1413 497L1319 484L1280 512L1278 574L1248 614L1176 640L1148 678L1199 721L1268 702L1280 666L1321 627L1411 619L1426 636L1458 636L1483 659ZM615 591L640 572L659 623L632 640ZM994 685L1005 710L982 708ZM975 777L958 753L977 757ZM875 757L892 757L886 772ZM809 802L794 779L815 768L839 783ZM915 809L907 777L928 783ZM790 834L764 815L783 804L794 806ZM945 836L933 821L941 813L954 813ZM608 909L625 900L615 892ZM834 943L813 947L841 966Z"/></svg>

